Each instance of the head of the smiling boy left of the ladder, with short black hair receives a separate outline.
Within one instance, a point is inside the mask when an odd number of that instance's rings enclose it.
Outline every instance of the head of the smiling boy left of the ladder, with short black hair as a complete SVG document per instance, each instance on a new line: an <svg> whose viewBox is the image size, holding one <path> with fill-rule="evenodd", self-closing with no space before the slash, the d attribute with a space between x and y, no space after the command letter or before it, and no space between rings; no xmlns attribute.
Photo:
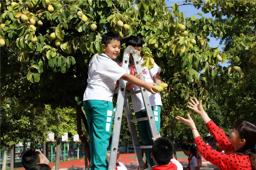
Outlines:
<svg viewBox="0 0 256 170"><path fill-rule="evenodd" d="M107 32L103 34L101 43L104 47L104 54L108 55L112 59L116 59L120 53L120 42L121 38L117 33Z"/></svg>

